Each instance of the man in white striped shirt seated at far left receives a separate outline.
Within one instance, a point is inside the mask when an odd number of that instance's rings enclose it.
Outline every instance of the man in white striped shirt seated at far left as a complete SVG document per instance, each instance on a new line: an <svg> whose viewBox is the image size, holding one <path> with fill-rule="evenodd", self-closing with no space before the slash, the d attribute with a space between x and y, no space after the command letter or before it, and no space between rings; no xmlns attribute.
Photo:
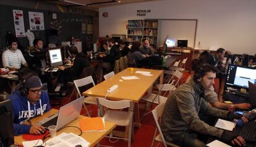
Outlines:
<svg viewBox="0 0 256 147"><path fill-rule="evenodd" d="M9 40L9 49L2 52L2 65L9 70L18 70L21 65L28 67L22 52L18 49L18 41Z"/></svg>

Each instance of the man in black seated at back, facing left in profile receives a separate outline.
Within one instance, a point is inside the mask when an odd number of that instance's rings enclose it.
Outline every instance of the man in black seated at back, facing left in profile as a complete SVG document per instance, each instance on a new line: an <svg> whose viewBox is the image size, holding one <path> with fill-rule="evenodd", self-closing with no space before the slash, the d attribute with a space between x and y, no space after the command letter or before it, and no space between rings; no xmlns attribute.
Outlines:
<svg viewBox="0 0 256 147"><path fill-rule="evenodd" d="M121 57L121 53L119 51L119 48L113 40L113 38L109 38L109 54L100 54L99 56L103 59L103 68L104 69L113 69L114 67L114 61L118 60Z"/></svg>

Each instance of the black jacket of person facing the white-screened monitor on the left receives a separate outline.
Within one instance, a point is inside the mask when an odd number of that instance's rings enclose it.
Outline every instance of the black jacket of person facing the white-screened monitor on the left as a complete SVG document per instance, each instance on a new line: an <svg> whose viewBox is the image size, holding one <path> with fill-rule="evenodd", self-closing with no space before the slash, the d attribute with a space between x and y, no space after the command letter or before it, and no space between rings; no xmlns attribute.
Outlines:
<svg viewBox="0 0 256 147"><path fill-rule="evenodd" d="M83 69L85 67L89 67L89 66L90 66L89 60L87 59L85 54L80 52L75 57L74 65L73 65L72 69L70 69L70 76L75 76L75 77L79 78Z"/></svg>

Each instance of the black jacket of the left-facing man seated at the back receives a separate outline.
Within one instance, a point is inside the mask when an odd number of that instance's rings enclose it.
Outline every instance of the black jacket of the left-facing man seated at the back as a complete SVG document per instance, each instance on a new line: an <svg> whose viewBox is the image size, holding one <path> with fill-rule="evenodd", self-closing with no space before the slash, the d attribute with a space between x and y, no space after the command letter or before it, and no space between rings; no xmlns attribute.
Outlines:
<svg viewBox="0 0 256 147"><path fill-rule="evenodd" d="M111 62L111 64L114 64L114 61L118 60L120 57L121 57L121 53L119 51L119 48L116 44L114 44L111 47L109 54L103 57L103 61Z"/></svg>

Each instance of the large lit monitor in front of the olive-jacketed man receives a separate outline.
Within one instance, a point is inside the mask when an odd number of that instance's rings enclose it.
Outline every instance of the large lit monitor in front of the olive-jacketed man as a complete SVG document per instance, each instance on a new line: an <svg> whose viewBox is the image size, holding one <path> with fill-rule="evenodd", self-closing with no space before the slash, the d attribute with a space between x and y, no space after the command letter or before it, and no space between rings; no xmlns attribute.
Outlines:
<svg viewBox="0 0 256 147"><path fill-rule="evenodd" d="M256 83L256 69L229 65L226 86L248 89L248 82Z"/></svg>

